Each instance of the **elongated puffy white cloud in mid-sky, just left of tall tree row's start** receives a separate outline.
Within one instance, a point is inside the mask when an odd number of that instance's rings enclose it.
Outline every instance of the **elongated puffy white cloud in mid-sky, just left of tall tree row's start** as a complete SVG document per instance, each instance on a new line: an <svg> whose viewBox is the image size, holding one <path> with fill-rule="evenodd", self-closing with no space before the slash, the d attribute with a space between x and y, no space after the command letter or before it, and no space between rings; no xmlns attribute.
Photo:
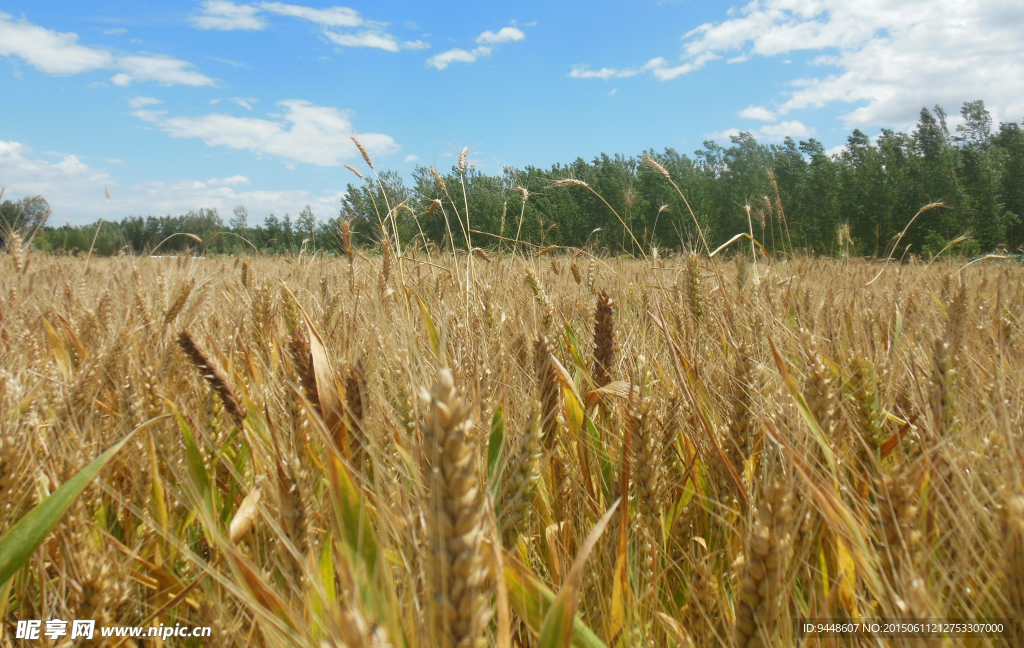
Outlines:
<svg viewBox="0 0 1024 648"><path fill-rule="evenodd" d="M219 114L166 117L165 112L145 110L133 115L171 137L199 138L209 146L252 150L287 161L340 166L359 156L350 139L354 127L347 112L300 99L279 101L278 105L285 109L285 115L276 121ZM360 133L357 137L372 156L398 149L389 135Z"/></svg>

